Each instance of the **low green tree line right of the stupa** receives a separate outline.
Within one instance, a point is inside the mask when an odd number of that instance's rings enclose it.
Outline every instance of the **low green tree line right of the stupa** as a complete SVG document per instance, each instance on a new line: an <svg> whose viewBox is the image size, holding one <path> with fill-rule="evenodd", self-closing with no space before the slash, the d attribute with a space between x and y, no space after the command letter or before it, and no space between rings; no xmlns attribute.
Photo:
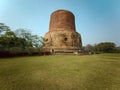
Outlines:
<svg viewBox="0 0 120 90"><path fill-rule="evenodd" d="M95 45L88 44L86 46L83 46L83 51L94 54L120 53L120 46L116 46L114 42L101 42Z"/></svg>

